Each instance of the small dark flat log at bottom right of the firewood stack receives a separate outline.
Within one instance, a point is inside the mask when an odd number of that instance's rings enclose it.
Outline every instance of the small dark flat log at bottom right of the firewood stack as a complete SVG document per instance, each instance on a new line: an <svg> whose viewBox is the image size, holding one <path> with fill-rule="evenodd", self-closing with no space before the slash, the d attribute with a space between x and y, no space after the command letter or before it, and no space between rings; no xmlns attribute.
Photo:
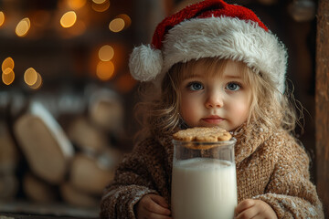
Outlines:
<svg viewBox="0 0 329 219"><path fill-rule="evenodd" d="M66 203L75 206L93 207L100 203L99 198L88 193L83 193L69 183L62 183L60 185L60 194Z"/></svg>

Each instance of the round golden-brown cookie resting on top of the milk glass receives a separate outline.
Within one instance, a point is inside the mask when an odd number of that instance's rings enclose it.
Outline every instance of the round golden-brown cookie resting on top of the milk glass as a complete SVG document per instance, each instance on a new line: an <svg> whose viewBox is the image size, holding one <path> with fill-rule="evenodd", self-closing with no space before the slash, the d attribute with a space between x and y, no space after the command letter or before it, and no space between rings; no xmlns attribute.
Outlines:
<svg viewBox="0 0 329 219"><path fill-rule="evenodd" d="M227 130L219 127L195 127L179 130L173 135L173 138L176 141L217 142L229 141L232 136Z"/></svg>

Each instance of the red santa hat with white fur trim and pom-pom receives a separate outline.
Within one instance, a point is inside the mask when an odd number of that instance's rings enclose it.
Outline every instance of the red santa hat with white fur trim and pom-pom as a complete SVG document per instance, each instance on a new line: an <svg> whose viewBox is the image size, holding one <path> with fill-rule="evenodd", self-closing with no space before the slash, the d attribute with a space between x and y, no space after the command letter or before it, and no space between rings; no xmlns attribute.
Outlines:
<svg viewBox="0 0 329 219"><path fill-rule="evenodd" d="M151 45L133 49L129 68L133 78L160 84L176 63L202 57L242 61L284 92L286 48L251 10L223 0L202 1L166 17Z"/></svg>

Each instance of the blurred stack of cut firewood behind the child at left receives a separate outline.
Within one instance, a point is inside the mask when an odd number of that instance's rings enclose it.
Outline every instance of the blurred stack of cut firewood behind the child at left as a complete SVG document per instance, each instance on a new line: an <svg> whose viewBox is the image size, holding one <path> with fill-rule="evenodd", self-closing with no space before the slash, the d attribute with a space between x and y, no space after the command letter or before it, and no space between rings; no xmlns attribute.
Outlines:
<svg viewBox="0 0 329 219"><path fill-rule="evenodd" d="M100 94L90 99L88 108L88 113L72 117L64 129L44 105L31 102L13 123L18 147L0 123L0 199L15 198L21 183L24 195L34 202L99 205L122 159L109 133L122 134L123 109L117 99ZM27 167L17 167L17 154ZM17 168L27 170L21 179L15 176Z"/></svg>

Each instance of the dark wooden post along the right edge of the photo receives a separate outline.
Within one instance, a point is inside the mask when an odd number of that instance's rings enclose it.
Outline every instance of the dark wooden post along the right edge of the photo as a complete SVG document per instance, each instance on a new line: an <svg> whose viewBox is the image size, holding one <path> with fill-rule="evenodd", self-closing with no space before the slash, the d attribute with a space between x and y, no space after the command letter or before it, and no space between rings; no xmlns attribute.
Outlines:
<svg viewBox="0 0 329 219"><path fill-rule="evenodd" d="M329 1L319 0L315 82L316 184L329 218Z"/></svg>

